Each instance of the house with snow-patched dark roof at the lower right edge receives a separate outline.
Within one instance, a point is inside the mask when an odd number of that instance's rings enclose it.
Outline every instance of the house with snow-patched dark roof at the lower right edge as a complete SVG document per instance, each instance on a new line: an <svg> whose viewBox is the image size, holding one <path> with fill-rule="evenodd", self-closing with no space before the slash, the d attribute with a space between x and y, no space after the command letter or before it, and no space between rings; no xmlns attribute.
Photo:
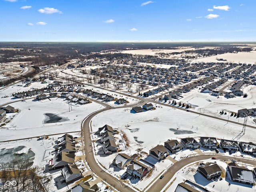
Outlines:
<svg viewBox="0 0 256 192"><path fill-rule="evenodd" d="M228 169L232 181L254 185L254 176L252 170L249 170L246 167L239 166L235 162L228 163Z"/></svg>

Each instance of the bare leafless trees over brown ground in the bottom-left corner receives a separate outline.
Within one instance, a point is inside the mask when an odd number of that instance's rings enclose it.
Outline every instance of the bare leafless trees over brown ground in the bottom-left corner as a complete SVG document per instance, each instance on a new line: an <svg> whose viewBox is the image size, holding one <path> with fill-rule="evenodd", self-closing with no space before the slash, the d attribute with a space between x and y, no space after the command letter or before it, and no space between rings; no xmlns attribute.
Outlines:
<svg viewBox="0 0 256 192"><path fill-rule="evenodd" d="M20 157L8 163L0 162L0 186L2 184L2 191L47 192L49 181L52 178L43 176L42 168L32 166L32 164L32 161ZM14 185L6 185L8 181Z"/></svg>

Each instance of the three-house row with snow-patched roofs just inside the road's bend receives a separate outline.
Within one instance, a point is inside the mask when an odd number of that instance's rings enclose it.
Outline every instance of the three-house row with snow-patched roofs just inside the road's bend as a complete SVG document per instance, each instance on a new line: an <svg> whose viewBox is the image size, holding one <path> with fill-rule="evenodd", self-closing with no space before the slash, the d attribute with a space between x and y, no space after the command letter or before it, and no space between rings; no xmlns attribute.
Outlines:
<svg viewBox="0 0 256 192"><path fill-rule="evenodd" d="M100 143L102 144L102 149L104 154L109 155L117 152L117 146L114 139L114 134L116 131L109 125L104 125L103 127L98 128L98 131L95 133L100 136Z"/></svg>

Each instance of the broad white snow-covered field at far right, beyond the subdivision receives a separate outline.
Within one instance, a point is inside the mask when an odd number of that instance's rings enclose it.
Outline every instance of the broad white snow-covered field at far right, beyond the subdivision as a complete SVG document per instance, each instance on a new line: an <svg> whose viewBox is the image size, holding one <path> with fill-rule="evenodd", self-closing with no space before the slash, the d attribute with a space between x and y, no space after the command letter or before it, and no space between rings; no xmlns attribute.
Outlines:
<svg viewBox="0 0 256 192"><path fill-rule="evenodd" d="M226 59L227 61L218 61L218 59ZM193 60L193 62L234 62L234 63L246 63L255 64L256 51L251 52L238 52L238 53L226 53L217 56L211 56L206 58L200 58Z"/></svg>

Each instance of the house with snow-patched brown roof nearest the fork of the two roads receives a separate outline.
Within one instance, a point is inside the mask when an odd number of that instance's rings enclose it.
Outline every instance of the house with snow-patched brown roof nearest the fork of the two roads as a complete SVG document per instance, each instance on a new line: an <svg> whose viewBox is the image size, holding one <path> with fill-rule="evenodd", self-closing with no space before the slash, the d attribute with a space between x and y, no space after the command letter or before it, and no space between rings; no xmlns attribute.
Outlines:
<svg viewBox="0 0 256 192"><path fill-rule="evenodd" d="M146 174L148 174L149 167L137 160L132 160L127 166L126 172L131 176L142 179Z"/></svg>

